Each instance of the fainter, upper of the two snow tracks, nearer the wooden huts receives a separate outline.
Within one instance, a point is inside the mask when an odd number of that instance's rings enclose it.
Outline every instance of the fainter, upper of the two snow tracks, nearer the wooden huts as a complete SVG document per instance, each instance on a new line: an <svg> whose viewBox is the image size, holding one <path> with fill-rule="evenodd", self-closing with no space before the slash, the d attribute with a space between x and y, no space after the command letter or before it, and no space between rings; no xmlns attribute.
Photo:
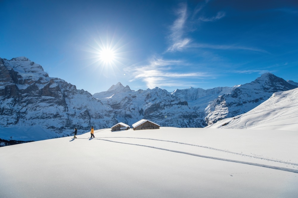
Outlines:
<svg viewBox="0 0 298 198"><path fill-rule="evenodd" d="M157 140L157 139L141 138L141 137L101 137L101 138L134 138L134 139L145 139L145 140ZM200 145L195 145L195 144L188 144L188 143L183 143L183 142L174 142L174 141L169 141L169 140L157 140L157 141L172 142L172 143L184 144L184 145L189 145L189 146L197 146L197 147L207 148L207 149L211 149L211 150L215 150L215 151L222 151L222 152L226 152L226 153L231 153L231 154L236 154L236 155L241 155L241 156L246 156L246 157L252 157L252 158L255 158L255 159L263 159L263 160L267 160L267 161L274 161L274 162L279 162L279 163L283 163L283 164L298 166L298 164L296 164L296 163L291 163L291 162L286 162L286 161L281 161L281 160L274 160L274 159L267 159L267 158L263 158L263 157L256 157L256 156L251 156L251 155L246 155L246 154L241 154L241 153L235 153L235 152L226 151L226 150L217 149L217 148L212 148L212 147L208 147L208 146L200 146Z"/></svg>

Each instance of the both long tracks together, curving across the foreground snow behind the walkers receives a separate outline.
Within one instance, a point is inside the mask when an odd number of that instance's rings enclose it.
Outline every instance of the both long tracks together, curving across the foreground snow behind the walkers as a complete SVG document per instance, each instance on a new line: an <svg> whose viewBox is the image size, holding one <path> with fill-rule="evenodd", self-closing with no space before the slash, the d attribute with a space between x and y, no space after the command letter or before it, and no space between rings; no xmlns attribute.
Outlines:
<svg viewBox="0 0 298 198"><path fill-rule="evenodd" d="M194 144L188 144L188 143L183 143L183 142L175 142L175 141L169 141L169 140L140 138L140 137L100 137L100 138L95 138L95 140L103 140L103 141L115 142L115 143L121 143L121 144L143 146L143 147L154 148L154 149L159 149L159 150L163 150L163 151L170 151L170 152L175 152L175 153L187 154L187 155L196 156L196 157L215 159L215 160L221 160L221 161L229 161L229 162L235 162L235 163L240 163L240 164L247 164L247 165L252 165L252 166L258 166L258 167L264 167L264 168L271 168L271 169L275 169L275 170L282 170L282 171L287 171L287 172L298 173L298 170L289 169L289 168L270 166L270 165L266 165L266 164L258 164L258 163L239 161L239 160L232 160L232 159L225 159L225 158L218 158L218 157L212 157L212 156L204 156L204 155L199 155L199 154L195 154L195 153L188 153L188 152L184 152L184 151L176 151L176 150L171 150L171 149L166 149L166 148L159 148L159 147L154 147L154 146L149 146L149 145L140 145L140 144L127 143L127 142L118 142L118 141L106 140L106 139L102 139L102 138L132 138L132 139L144 139L144 140L155 140L155 141L171 142L171 143L178 143L178 144L184 144L184 145L190 145L190 146L197 146L197 147L201 147L201 148L207 148L207 149L212 149L212 150L215 150L215 151L227 152L227 153L241 155L241 156L248 156L248 157L252 157L252 158L256 158L256 159L262 159L262 160L266 160L266 161L273 161L273 162L279 162L279 163L298 166L298 164L295 164L295 163L290 163L290 162L285 162L285 161L280 161L280 160L266 159L266 158L261 158L261 157L256 157L256 156L250 156L250 155L246 155L246 154L235 153L235 152L231 152L231 151L225 151L225 150L216 149L216 148L207 147L207 146L194 145ZM79 139L94 139L94 138L79 138Z"/></svg>

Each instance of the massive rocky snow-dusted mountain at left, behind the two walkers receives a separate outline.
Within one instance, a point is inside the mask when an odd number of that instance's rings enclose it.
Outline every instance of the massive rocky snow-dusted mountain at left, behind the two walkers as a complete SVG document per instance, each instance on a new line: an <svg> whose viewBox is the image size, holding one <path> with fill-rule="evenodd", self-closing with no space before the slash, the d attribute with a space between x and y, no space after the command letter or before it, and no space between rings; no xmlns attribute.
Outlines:
<svg viewBox="0 0 298 198"><path fill-rule="evenodd" d="M113 110L75 85L49 77L26 57L0 58L0 138L44 140L107 128Z"/></svg>

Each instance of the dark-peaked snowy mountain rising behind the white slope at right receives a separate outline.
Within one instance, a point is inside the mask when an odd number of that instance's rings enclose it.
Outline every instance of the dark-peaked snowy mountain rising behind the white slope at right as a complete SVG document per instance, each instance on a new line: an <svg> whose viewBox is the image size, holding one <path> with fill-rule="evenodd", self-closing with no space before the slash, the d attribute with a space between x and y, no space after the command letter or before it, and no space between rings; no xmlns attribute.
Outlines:
<svg viewBox="0 0 298 198"><path fill-rule="evenodd" d="M219 95L205 108L206 123L212 124L252 110L279 91L297 88L280 77L264 73L251 83L235 86L231 93Z"/></svg>

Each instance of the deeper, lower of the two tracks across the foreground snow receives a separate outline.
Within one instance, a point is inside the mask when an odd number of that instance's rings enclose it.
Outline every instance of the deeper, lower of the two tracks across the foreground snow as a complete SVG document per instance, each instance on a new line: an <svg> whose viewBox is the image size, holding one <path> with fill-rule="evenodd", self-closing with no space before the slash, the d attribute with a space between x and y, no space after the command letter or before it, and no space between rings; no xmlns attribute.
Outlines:
<svg viewBox="0 0 298 198"><path fill-rule="evenodd" d="M103 140L103 141L115 142L115 143L121 143L121 144L128 144L128 145L135 145L135 146L144 146L144 147L148 147L148 148L155 148L155 149L159 149L159 150L163 150L163 151L170 151L170 152L174 152L174 153L182 153L182 154L186 154L186 155L202 157L202 158L207 158L207 159L229 161L229 162L235 162L235 163L239 163L239 164L247 164L247 165L252 165L252 166L258 166L258 167L264 167L264 168L271 168L271 169L275 169L275 170L282 170L282 171L287 171L287 172L298 173L298 170L283 168L283 167L270 166L270 165L265 165L265 164L258 164L258 163L252 163L252 162L246 162L246 161L238 161L238 160L232 160L232 159L224 159L224 158L218 158L218 157L212 157L212 156L204 156L204 155L198 155L198 154L195 154L195 153L175 151L175 150L170 150L170 149L166 149L166 148L159 148L159 147L154 147L154 146L148 146L148 145L131 144L131 143L126 143L126 142L117 142L117 141L105 140L105 139L97 139L97 140Z"/></svg>

